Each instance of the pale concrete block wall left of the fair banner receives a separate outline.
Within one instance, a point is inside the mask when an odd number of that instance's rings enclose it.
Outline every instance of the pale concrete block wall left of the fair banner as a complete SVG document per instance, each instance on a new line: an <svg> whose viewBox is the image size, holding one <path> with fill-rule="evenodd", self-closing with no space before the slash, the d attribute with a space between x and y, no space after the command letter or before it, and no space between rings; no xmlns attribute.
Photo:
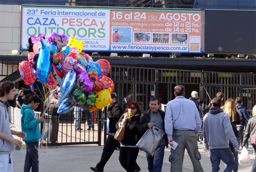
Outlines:
<svg viewBox="0 0 256 172"><path fill-rule="evenodd" d="M0 54L20 50L21 5L0 5Z"/></svg>

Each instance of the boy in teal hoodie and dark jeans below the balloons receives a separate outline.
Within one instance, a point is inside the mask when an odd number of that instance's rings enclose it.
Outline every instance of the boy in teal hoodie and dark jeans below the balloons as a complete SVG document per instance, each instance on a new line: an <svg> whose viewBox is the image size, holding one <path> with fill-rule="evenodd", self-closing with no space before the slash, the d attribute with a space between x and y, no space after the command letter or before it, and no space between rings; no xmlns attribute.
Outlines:
<svg viewBox="0 0 256 172"><path fill-rule="evenodd" d="M26 139L23 139L27 150L24 172L29 172L31 167L33 172L39 171L38 146L41 138L39 123L43 122L44 118L43 116L37 118L34 110L40 103L41 99L32 95L28 99L28 105L23 104L21 107L21 130L27 133Z"/></svg>

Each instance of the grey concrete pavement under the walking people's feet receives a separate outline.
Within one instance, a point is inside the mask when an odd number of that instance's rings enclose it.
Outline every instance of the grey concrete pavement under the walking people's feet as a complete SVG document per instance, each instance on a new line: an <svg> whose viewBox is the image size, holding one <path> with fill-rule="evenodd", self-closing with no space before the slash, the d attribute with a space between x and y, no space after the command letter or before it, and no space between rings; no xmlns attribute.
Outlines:
<svg viewBox="0 0 256 172"><path fill-rule="evenodd" d="M12 129L15 130L13 127ZM16 136L15 136L16 137ZM18 139L18 138L17 138ZM198 144L201 154L201 164L205 172L212 170L210 155L203 150L203 144ZM39 148L39 171L40 172L92 172L90 167L95 167L99 162L102 154L103 146L98 145L63 145L63 146L44 146ZM239 172L250 172L255 159L251 145L247 149L251 158L250 166L241 166L239 164ZM13 150L14 170L22 172L24 167L26 154L26 145L23 142L21 150ZM168 161L170 148L165 149L163 172L170 171L170 162ZM238 155L239 156L239 155ZM123 172L125 171L119 163L119 151L114 151L110 160L107 162L105 172ZM137 163L142 172L147 170L147 159L144 151L139 151ZM183 172L192 172L193 165L185 150ZM220 164L220 171L224 171L224 163Z"/></svg>

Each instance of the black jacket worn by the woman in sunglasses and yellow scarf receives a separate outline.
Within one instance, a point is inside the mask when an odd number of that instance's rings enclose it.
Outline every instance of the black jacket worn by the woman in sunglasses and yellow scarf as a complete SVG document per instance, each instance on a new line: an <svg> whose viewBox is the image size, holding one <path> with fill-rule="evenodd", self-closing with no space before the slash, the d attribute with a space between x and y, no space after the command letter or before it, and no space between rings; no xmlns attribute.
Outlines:
<svg viewBox="0 0 256 172"><path fill-rule="evenodd" d="M140 114L135 114L131 119L127 118L125 129L124 129L124 139L121 144L125 146L135 146L140 140L142 134L138 131L138 123L140 122ZM119 122L122 122L124 114L116 123L116 128L119 128Z"/></svg>

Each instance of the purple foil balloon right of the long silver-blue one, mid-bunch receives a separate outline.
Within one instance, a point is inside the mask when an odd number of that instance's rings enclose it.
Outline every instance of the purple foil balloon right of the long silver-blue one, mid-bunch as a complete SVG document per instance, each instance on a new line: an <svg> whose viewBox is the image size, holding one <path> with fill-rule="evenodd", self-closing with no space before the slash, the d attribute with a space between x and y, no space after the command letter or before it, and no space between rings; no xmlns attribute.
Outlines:
<svg viewBox="0 0 256 172"><path fill-rule="evenodd" d="M93 83L89 80L88 74L85 72L81 72L76 77L76 88L80 89L85 93L92 91Z"/></svg>

